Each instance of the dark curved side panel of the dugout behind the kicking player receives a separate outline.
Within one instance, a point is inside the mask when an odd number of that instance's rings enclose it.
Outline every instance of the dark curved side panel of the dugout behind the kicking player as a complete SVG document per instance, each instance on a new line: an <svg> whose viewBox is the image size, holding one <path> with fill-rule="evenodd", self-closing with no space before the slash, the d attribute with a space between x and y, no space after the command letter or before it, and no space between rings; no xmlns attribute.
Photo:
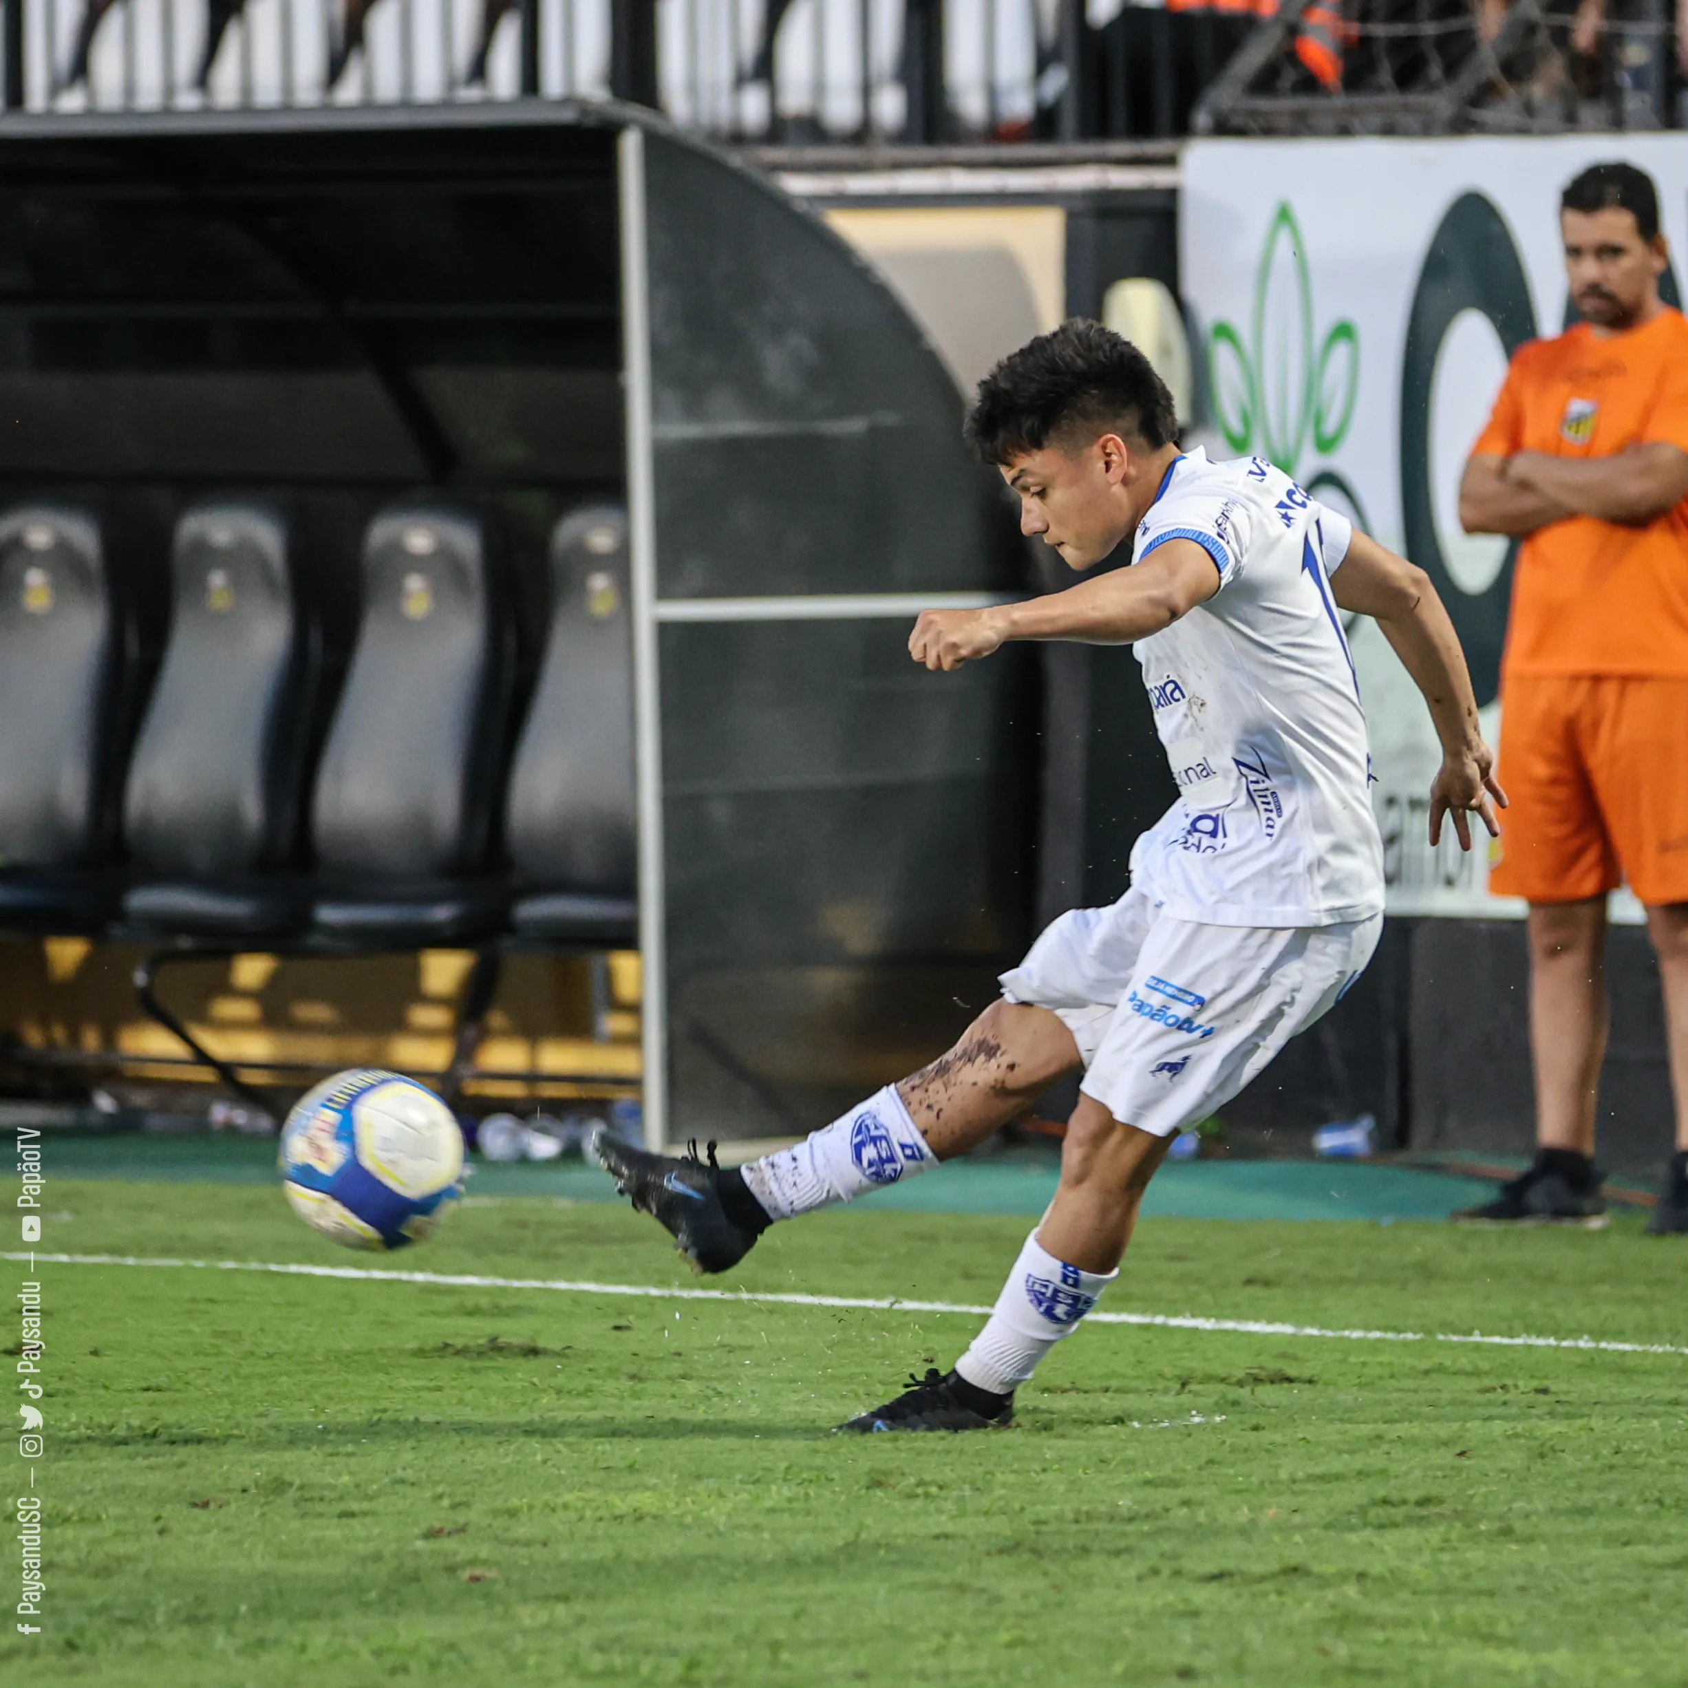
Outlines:
<svg viewBox="0 0 1688 1688"><path fill-rule="evenodd" d="M819 218L647 145L658 594L1023 589L915 322ZM795 1136L932 1060L1031 935L1036 653L662 628L670 1136Z"/></svg>

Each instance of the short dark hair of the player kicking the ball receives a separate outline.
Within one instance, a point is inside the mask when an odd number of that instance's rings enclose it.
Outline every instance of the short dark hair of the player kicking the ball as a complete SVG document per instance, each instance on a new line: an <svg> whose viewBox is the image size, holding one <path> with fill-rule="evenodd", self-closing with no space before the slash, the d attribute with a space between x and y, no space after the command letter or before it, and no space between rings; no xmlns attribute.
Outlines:
<svg viewBox="0 0 1688 1688"><path fill-rule="evenodd" d="M1041 451L1057 436L1119 432L1150 449L1178 436L1171 393L1148 358L1085 317L1038 334L979 383L967 439L986 463Z"/></svg>

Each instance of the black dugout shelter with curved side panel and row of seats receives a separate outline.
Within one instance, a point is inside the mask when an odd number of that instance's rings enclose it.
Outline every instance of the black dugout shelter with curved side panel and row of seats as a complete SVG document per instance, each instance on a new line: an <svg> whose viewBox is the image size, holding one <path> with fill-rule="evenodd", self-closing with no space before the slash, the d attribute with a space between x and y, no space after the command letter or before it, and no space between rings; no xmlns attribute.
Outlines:
<svg viewBox="0 0 1688 1688"><path fill-rule="evenodd" d="M14 120L0 250L0 923L184 1060L312 1065L206 955L473 949L456 1087L506 954L636 945L648 1136L778 1134L1023 940L1033 670L901 652L1018 538L776 189L601 105Z"/></svg>

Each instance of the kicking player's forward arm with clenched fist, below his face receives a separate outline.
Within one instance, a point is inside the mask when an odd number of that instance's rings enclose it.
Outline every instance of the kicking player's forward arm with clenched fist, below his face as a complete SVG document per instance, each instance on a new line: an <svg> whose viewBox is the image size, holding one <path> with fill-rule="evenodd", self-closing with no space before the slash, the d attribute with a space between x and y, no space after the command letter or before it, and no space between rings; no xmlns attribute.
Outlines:
<svg viewBox="0 0 1688 1688"><path fill-rule="evenodd" d="M908 655L928 668L959 668L1011 638L1070 638L1133 645L1170 628L1219 591L1214 559L1188 538L1156 545L1143 562L1023 604L927 609L908 635Z"/></svg>

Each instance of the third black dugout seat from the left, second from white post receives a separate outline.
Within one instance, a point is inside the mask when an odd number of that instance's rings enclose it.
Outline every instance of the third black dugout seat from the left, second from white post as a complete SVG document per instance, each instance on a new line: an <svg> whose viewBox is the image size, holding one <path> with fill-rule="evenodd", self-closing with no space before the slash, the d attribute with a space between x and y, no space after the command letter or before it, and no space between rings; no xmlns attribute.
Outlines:
<svg viewBox="0 0 1688 1688"><path fill-rule="evenodd" d="M314 935L348 949L486 937L513 641L481 522L398 508L363 545L363 614L316 778Z"/></svg>

